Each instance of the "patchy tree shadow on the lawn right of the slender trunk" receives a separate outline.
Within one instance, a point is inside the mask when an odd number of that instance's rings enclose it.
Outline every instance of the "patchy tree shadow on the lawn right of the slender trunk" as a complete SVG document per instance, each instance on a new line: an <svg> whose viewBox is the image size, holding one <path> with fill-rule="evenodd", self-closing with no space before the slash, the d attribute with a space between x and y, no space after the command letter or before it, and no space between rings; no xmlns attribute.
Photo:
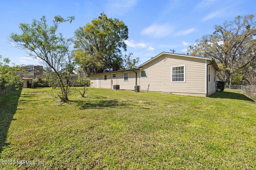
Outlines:
<svg viewBox="0 0 256 170"><path fill-rule="evenodd" d="M134 104L130 102L120 102L116 99L114 100L96 100L96 101L82 101L74 100L74 102L80 109L108 109L108 108L131 108Z"/></svg>

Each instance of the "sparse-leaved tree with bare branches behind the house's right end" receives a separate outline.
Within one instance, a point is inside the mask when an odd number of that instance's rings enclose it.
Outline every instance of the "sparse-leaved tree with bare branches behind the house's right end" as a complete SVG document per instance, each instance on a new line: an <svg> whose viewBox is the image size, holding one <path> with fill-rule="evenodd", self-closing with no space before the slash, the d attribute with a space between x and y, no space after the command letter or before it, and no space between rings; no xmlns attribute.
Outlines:
<svg viewBox="0 0 256 170"><path fill-rule="evenodd" d="M216 59L218 78L230 84L232 76L256 60L256 21L254 15L215 25L214 33L204 35L188 47L188 54Z"/></svg>

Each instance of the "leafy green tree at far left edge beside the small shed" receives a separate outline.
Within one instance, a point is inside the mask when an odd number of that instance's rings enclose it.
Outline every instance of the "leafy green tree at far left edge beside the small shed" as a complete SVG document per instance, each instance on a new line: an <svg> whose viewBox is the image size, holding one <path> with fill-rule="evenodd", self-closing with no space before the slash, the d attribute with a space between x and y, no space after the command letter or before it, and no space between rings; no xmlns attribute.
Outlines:
<svg viewBox="0 0 256 170"><path fill-rule="evenodd" d="M21 78L16 72L20 71L20 67L16 65L10 66L9 64L10 59L2 58L0 55L0 86L6 88L14 84L16 88L19 88Z"/></svg>

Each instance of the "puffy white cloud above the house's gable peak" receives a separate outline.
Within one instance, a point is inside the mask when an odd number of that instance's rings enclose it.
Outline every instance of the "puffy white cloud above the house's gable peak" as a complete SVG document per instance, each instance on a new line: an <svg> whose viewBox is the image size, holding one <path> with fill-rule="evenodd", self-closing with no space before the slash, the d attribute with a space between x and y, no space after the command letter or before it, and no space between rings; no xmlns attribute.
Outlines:
<svg viewBox="0 0 256 170"><path fill-rule="evenodd" d="M151 35L156 38L162 38L166 35L169 35L172 32L173 28L170 24L155 24L153 23L149 27L142 29L141 33L143 35Z"/></svg>

